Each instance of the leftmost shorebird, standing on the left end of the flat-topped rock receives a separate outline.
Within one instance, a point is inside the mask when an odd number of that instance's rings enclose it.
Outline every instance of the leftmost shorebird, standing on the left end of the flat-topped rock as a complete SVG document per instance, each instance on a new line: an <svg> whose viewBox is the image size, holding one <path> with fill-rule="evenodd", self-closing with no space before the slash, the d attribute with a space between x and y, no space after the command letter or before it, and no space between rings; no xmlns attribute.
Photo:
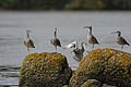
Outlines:
<svg viewBox="0 0 131 87"><path fill-rule="evenodd" d="M29 37L29 33L31 33L31 30L27 29L26 30L27 37L24 40L24 45L26 46L28 53L29 53L29 48L35 48L35 45L34 45L33 40Z"/></svg>

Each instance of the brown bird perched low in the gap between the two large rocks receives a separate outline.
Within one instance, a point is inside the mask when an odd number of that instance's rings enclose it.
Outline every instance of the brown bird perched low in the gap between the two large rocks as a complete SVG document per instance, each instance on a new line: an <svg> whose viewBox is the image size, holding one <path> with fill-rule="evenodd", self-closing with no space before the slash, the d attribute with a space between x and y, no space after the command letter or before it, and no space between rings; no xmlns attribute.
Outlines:
<svg viewBox="0 0 131 87"><path fill-rule="evenodd" d="M82 58L83 58L83 53L85 51L84 44L85 42L81 44L81 48L76 47L75 49L73 49L73 51L71 51L71 52L74 52L73 59L76 60L78 62L80 62L82 60Z"/></svg>

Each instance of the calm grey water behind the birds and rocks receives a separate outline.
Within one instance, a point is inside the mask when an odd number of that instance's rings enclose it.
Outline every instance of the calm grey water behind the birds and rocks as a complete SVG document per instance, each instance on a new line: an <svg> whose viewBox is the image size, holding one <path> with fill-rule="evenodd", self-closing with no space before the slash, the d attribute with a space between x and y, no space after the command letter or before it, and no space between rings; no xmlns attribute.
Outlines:
<svg viewBox="0 0 131 87"><path fill-rule="evenodd" d="M73 40L86 42L87 30L83 28L86 25L93 26L93 34L100 44L95 48L120 49L116 35L110 34L116 30L121 30L131 44L131 12L0 12L0 85L19 84L19 70L27 54L23 45L26 29L32 30L36 46L32 52L52 52L53 28L58 28L58 37L64 46ZM91 46L86 49L91 50ZM76 69L71 50L59 48L58 51L67 55L72 69ZM131 52L131 47L124 47L123 51Z"/></svg>

